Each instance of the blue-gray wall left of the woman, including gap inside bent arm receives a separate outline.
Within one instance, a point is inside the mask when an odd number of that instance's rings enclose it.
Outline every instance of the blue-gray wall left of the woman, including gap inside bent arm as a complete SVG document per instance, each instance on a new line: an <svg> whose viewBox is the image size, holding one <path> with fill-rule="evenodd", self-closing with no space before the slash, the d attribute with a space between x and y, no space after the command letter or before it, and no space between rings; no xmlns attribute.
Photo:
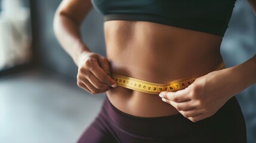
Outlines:
<svg viewBox="0 0 256 143"><path fill-rule="evenodd" d="M57 42L53 32L53 18L58 1L36 1L35 11L35 48L39 64L45 70L57 71L65 76L76 78L77 68L72 58L67 55ZM102 15L92 10L81 27L82 37L92 51L106 55Z"/></svg>

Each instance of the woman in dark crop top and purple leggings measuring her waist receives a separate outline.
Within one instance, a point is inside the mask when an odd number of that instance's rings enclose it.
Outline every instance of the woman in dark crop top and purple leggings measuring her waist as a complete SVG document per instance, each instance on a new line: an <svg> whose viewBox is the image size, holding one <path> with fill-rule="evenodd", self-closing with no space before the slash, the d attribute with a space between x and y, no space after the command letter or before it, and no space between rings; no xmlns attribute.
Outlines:
<svg viewBox="0 0 256 143"><path fill-rule="evenodd" d="M92 4L104 14L107 57L91 52L80 36ZM250 4L256 11L256 2ZM235 0L61 2L54 30L78 66L78 86L91 94L107 92L78 142L246 142L235 95L256 83L256 56L221 67L220 45L234 5ZM152 94L123 80L140 81L150 91L158 83L166 89Z"/></svg>

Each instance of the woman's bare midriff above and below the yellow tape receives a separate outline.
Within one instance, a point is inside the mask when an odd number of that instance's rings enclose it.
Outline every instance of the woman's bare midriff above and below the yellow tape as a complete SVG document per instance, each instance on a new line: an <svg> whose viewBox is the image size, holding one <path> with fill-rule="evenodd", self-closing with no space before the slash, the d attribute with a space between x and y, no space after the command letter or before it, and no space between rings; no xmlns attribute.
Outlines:
<svg viewBox="0 0 256 143"><path fill-rule="evenodd" d="M154 83L168 83L203 73L223 60L221 36L147 21L104 22L107 58L111 73ZM158 95L112 88L110 102L138 117L179 114Z"/></svg>

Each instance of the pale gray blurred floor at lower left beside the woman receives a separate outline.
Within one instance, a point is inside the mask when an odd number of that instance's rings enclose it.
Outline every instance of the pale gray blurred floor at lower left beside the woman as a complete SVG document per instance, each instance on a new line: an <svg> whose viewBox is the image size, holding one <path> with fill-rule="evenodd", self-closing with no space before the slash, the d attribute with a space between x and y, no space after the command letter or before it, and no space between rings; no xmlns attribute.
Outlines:
<svg viewBox="0 0 256 143"><path fill-rule="evenodd" d="M89 95L74 81L38 71L1 78L0 142L76 142L104 97Z"/></svg>

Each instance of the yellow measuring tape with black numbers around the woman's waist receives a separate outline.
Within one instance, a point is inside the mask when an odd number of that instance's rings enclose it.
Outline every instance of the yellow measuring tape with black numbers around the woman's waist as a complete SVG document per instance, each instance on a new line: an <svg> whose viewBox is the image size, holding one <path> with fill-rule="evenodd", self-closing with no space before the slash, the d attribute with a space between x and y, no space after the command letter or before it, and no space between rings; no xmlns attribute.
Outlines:
<svg viewBox="0 0 256 143"><path fill-rule="evenodd" d="M178 79L174 80L172 82L166 83L166 84L159 84L159 83L153 83L153 82L147 82L140 79L135 79L128 76L122 76L119 74L112 74L111 77L116 81L116 84L118 86L132 89L134 91L140 91L147 94L159 94L162 91L171 91L175 92L180 89L187 88L189 85L191 85L198 77L203 76L211 71L215 70L221 70L224 69L225 65L223 62L218 64L212 69L209 69L208 71L205 71L201 74L196 74L194 76L190 76L184 79Z"/></svg>

